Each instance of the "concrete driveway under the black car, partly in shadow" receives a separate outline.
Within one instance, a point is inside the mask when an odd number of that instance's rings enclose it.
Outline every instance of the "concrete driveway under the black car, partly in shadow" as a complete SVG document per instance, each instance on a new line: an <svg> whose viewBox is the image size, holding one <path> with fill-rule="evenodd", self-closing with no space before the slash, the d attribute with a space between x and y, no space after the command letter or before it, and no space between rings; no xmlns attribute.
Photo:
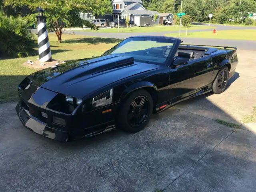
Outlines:
<svg viewBox="0 0 256 192"><path fill-rule="evenodd" d="M116 130L62 144L24 128L15 103L0 105L0 191L254 192L256 131L241 119L256 106L256 52L238 53L223 94L154 115L136 134Z"/></svg>

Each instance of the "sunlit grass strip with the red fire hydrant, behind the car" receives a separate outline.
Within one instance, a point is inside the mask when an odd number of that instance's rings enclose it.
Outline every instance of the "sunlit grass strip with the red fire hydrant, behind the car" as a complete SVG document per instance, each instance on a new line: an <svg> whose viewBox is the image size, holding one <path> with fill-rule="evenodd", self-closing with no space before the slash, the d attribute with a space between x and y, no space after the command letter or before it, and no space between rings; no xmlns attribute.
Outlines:
<svg viewBox="0 0 256 192"><path fill-rule="evenodd" d="M181 36L178 33L170 33L170 34L166 34L166 36L256 41L256 30L255 29L222 30L222 31L217 30L216 34L214 34L212 31L189 32L189 30L188 30L188 35L187 36L186 36L185 33L182 33Z"/></svg>

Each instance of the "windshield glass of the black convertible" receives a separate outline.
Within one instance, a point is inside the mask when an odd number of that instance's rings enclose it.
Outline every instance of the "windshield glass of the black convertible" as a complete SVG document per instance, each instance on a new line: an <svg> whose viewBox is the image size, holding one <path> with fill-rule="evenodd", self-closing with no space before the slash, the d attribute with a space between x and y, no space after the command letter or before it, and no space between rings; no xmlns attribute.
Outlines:
<svg viewBox="0 0 256 192"><path fill-rule="evenodd" d="M139 62L164 64L175 41L164 38L132 37L108 50L104 55L132 56Z"/></svg>

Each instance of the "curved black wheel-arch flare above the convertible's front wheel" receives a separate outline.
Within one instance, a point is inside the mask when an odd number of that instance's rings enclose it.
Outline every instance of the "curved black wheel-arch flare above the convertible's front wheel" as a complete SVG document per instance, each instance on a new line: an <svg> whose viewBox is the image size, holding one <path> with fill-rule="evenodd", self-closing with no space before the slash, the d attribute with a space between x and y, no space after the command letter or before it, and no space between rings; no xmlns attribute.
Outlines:
<svg viewBox="0 0 256 192"><path fill-rule="evenodd" d="M152 90L154 89L155 91L157 91L156 86L153 83L151 83L151 82L146 82L146 81L136 82L136 83L131 84L130 86L128 86L122 92L122 94L120 96L120 101L122 101L131 92L133 92L133 91L135 91L137 89L141 89L141 88L151 88Z"/></svg>

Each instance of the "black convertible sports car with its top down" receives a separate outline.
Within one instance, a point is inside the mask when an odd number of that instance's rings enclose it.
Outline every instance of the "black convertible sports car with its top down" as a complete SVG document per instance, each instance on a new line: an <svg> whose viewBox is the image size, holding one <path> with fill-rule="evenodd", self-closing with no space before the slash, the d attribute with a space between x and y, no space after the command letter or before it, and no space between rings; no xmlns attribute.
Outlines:
<svg viewBox="0 0 256 192"><path fill-rule="evenodd" d="M16 112L26 128L61 142L115 127L138 132L152 113L222 93L236 71L236 48L181 43L135 36L100 57L35 72L18 86Z"/></svg>

